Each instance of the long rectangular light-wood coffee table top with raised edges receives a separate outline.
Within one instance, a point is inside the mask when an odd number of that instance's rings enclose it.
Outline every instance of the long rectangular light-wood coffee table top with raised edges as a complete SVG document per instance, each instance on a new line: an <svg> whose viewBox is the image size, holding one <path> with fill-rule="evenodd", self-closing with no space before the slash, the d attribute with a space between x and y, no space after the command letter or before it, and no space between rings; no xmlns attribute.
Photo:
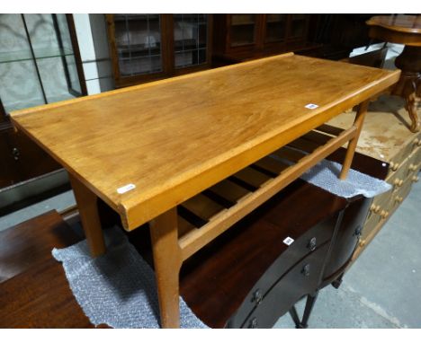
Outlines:
<svg viewBox="0 0 421 343"><path fill-rule="evenodd" d="M399 71L284 54L11 118L131 230L398 79Z"/></svg>

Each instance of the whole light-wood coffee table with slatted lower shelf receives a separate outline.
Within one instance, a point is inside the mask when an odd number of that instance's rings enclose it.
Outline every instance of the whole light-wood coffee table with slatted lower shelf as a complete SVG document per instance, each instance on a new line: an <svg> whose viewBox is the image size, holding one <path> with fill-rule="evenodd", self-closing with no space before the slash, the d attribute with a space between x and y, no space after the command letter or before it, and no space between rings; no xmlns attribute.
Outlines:
<svg viewBox="0 0 421 343"><path fill-rule="evenodd" d="M183 261L349 142L344 179L370 98L399 74L285 54L11 116L67 169L93 256L105 251L98 198L128 231L149 223L161 324L172 328L179 327ZM358 104L354 125L311 154L291 165L269 156ZM273 175L241 190L230 178L253 177L252 163ZM216 206L207 189L230 205ZM206 216L204 224L186 221L181 205Z"/></svg>

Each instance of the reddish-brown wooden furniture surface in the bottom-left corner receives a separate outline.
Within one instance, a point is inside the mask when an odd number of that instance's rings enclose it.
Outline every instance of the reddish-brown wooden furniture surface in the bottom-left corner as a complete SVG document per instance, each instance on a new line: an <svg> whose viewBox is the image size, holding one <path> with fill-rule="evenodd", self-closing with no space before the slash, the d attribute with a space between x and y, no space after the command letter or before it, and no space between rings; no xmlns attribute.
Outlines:
<svg viewBox="0 0 421 343"><path fill-rule="evenodd" d="M51 256L78 240L56 211L0 233L0 328L94 328Z"/></svg>

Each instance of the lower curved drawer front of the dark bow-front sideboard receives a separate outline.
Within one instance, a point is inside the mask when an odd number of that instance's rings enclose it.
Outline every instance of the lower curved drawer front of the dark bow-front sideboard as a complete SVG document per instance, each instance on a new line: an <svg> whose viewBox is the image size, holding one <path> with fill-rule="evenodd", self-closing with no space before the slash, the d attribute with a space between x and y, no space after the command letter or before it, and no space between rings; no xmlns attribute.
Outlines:
<svg viewBox="0 0 421 343"><path fill-rule="evenodd" d="M318 287L321 269L326 259L328 242L302 259L282 277L250 313L242 328L269 329L303 295Z"/></svg>

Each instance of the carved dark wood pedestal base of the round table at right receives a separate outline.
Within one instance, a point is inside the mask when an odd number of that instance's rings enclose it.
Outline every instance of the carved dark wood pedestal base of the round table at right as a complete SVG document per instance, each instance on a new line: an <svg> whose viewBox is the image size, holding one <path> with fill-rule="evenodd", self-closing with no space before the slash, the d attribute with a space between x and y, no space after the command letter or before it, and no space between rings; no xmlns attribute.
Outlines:
<svg viewBox="0 0 421 343"><path fill-rule="evenodd" d="M395 66L402 70L398 84L392 94L405 99L405 108L412 121L409 128L412 132L420 129L421 123L417 109L421 98L421 47L405 46L402 53L395 60Z"/></svg>

